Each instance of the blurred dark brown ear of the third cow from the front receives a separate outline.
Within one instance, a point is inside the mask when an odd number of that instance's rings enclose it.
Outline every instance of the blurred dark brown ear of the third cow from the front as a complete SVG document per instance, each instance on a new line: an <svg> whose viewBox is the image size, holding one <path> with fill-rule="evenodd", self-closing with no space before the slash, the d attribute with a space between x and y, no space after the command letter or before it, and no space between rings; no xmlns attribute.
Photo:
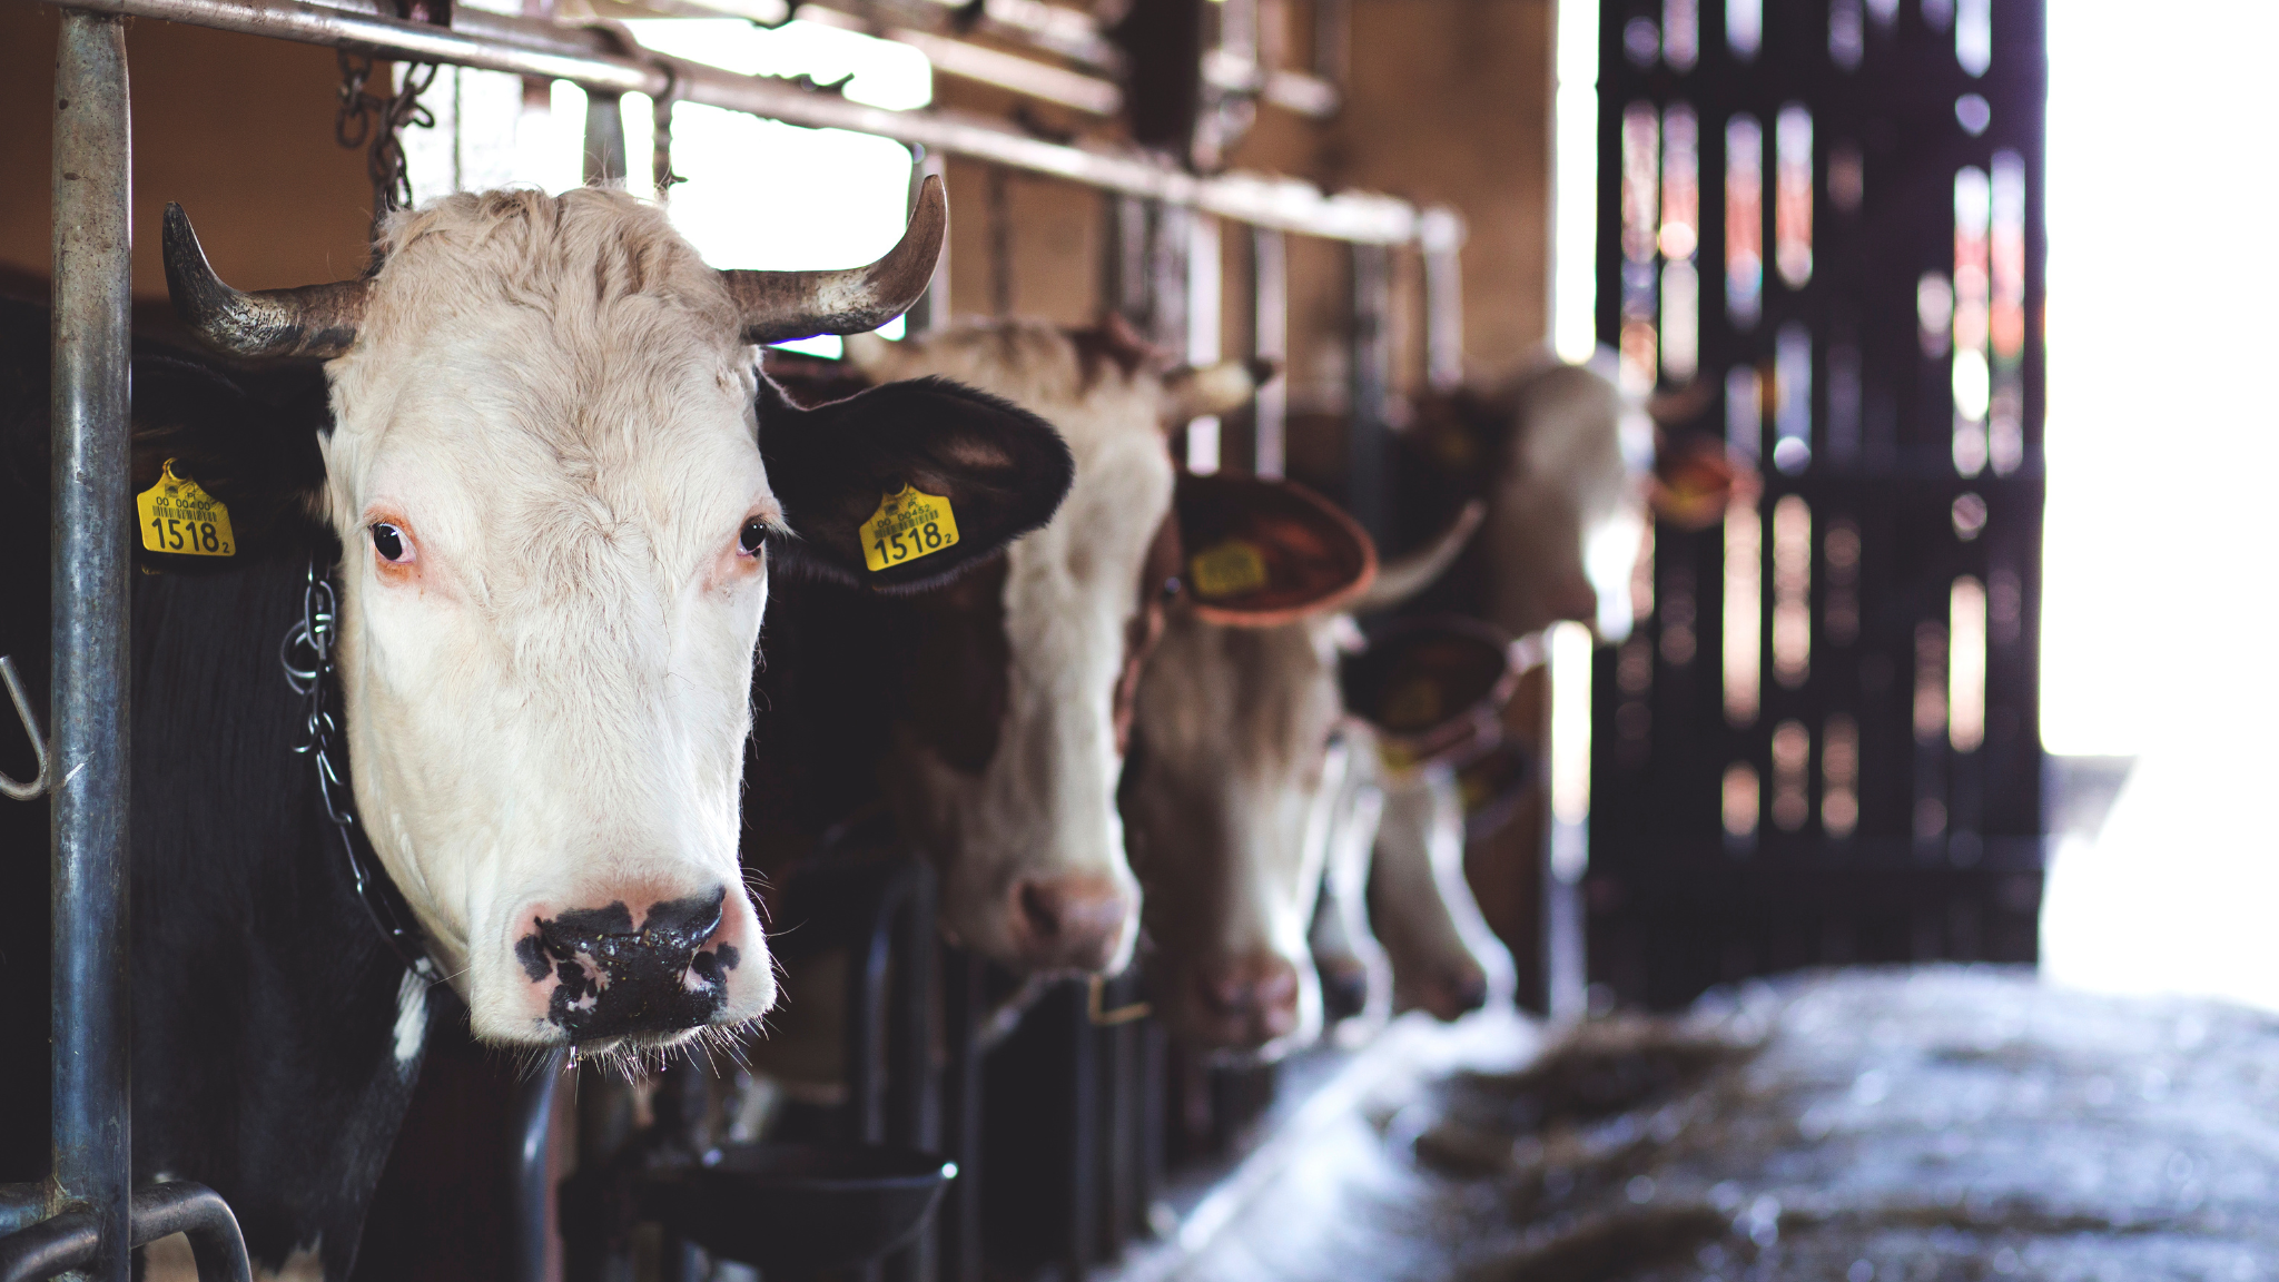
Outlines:
<svg viewBox="0 0 2279 1282"><path fill-rule="evenodd" d="M1404 764L1465 757L1497 737L1520 687L1520 652L1470 618L1395 623L1338 666L1345 707Z"/></svg>

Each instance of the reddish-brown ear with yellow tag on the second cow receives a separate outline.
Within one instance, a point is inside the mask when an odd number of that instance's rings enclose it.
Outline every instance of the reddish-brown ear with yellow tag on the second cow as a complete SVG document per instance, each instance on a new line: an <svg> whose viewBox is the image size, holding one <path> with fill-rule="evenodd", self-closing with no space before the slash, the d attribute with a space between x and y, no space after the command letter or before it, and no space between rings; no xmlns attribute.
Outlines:
<svg viewBox="0 0 2279 1282"><path fill-rule="evenodd" d="M1210 623L1294 623L1354 600L1377 577L1370 536L1294 481L1183 474L1174 502L1185 598Z"/></svg>

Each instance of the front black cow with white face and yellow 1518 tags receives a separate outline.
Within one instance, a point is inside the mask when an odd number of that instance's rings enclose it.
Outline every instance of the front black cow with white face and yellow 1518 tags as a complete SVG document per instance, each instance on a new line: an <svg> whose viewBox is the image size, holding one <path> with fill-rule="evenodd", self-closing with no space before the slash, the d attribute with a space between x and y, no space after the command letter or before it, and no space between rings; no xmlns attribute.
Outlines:
<svg viewBox="0 0 2279 1282"><path fill-rule="evenodd" d="M235 527L230 557L139 552L180 573L134 579L139 1177L219 1188L264 1268L346 1277L417 1074L426 983L294 755L278 648L312 566L340 595L358 828L481 1040L638 1058L768 1011L738 803L770 566L925 586L1069 486L1060 436L994 397L921 381L798 408L757 374L752 342L909 306L944 228L930 182L866 269L722 274L624 194L465 194L392 219L365 281L242 294L169 212L191 328L326 365L134 360L137 490L171 461ZM46 335L43 310L5 313L0 652L39 689ZM946 495L962 541L868 570L859 529L905 486ZM0 823L0 1179L25 1179L46 814Z"/></svg>

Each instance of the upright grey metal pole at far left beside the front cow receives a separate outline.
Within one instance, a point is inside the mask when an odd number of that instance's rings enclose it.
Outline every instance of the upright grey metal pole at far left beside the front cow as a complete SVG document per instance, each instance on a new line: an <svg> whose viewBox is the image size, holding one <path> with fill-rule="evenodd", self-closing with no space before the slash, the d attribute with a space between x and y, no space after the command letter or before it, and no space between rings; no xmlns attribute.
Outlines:
<svg viewBox="0 0 2279 1282"><path fill-rule="evenodd" d="M128 1188L128 46L66 9L55 50L55 1177L125 1282Z"/></svg>

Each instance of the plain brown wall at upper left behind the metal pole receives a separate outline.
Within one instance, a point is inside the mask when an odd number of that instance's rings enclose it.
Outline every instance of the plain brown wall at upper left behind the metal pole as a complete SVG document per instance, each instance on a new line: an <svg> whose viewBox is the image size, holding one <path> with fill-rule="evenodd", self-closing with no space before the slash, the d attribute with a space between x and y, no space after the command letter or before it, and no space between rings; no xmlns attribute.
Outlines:
<svg viewBox="0 0 2279 1282"><path fill-rule="evenodd" d="M48 164L57 14L0 5L0 271L48 278ZM385 66L378 75L385 75ZM128 23L134 109L134 297L166 297L160 214L180 201L214 267L267 290L365 267L365 153L333 139L328 48Z"/></svg>

